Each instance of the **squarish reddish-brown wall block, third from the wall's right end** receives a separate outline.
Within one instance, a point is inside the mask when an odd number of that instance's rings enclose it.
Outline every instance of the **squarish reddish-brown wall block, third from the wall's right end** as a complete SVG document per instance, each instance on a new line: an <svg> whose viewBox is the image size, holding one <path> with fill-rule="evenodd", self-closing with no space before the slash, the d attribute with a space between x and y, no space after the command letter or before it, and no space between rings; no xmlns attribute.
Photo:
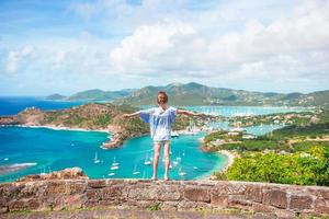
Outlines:
<svg viewBox="0 0 329 219"><path fill-rule="evenodd" d="M286 193L277 189L266 191L263 194L263 204L272 205L277 208L286 208L287 207Z"/></svg>

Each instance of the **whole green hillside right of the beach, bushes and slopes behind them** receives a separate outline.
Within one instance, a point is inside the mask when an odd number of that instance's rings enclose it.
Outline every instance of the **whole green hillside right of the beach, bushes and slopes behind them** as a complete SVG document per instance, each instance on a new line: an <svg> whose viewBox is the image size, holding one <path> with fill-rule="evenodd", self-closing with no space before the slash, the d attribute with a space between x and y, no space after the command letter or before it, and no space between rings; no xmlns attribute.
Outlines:
<svg viewBox="0 0 329 219"><path fill-rule="evenodd" d="M316 123L298 123L254 139L243 139L242 134L230 138L223 130L206 136L206 149L239 154L226 172L215 173L216 178L328 186L329 113L317 116Z"/></svg>

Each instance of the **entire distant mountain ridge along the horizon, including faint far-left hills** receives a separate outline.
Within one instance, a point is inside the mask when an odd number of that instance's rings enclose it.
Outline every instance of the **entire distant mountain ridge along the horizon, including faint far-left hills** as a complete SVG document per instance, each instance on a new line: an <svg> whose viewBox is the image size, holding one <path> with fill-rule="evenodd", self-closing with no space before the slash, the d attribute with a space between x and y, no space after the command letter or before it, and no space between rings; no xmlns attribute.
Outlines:
<svg viewBox="0 0 329 219"><path fill-rule="evenodd" d="M169 83L167 85L147 85L141 89L102 91L99 89L78 92L61 97L66 101L109 101L114 104L152 105L158 91L166 91L172 105L253 105L253 106L325 106L329 107L329 90L310 93L260 92L213 88L196 82Z"/></svg>

